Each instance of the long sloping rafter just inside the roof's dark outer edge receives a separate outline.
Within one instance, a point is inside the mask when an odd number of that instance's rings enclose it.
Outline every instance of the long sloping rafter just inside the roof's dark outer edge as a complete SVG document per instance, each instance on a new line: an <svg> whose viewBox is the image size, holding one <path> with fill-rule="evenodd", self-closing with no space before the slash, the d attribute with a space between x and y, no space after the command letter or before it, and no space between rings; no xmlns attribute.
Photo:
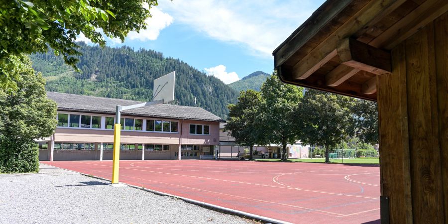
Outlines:
<svg viewBox="0 0 448 224"><path fill-rule="evenodd" d="M373 0L367 3L361 10L354 14L348 21L342 24L332 35L319 43L310 53L297 62L293 67L292 79L299 79L311 70L318 62L332 53L341 40L344 40L355 34L365 24L376 19L377 15L393 5L396 0ZM281 65L276 62L277 65ZM308 74L307 74L308 75Z"/></svg>

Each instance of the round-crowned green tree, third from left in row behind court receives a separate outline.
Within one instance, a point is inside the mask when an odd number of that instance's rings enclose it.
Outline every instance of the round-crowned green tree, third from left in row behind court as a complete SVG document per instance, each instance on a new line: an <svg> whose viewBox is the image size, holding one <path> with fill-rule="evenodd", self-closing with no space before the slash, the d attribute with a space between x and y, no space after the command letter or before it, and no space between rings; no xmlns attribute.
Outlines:
<svg viewBox="0 0 448 224"><path fill-rule="evenodd" d="M352 104L352 98L309 89L296 112L303 116L303 142L324 146L325 162L329 162L330 149L353 134Z"/></svg>

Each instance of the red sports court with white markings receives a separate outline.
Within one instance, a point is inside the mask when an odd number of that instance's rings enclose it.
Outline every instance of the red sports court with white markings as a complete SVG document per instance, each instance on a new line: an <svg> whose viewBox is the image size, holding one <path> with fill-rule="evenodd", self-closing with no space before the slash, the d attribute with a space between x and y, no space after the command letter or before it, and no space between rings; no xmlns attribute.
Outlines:
<svg viewBox="0 0 448 224"><path fill-rule="evenodd" d="M42 163L112 178L112 161ZM120 161L119 181L283 222L379 223L380 219L378 165L126 160Z"/></svg>

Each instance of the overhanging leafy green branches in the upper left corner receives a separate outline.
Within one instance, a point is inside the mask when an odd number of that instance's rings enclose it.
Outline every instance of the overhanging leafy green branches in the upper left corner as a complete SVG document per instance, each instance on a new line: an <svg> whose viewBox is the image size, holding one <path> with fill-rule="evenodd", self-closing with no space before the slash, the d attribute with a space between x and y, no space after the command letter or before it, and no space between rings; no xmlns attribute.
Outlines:
<svg viewBox="0 0 448 224"><path fill-rule="evenodd" d="M145 19L157 0L2 0L0 1L0 65L22 53L61 53L76 68L79 55L76 36L81 32L93 43L105 46L100 31L121 41L129 31L146 28ZM3 61L3 62L1 62ZM8 70L0 70L3 88L15 88Z"/></svg>

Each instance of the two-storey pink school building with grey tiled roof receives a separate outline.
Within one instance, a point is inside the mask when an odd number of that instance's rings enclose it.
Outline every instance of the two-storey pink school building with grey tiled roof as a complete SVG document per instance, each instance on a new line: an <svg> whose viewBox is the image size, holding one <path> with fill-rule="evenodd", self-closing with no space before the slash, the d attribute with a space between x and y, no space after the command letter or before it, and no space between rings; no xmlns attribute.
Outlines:
<svg viewBox="0 0 448 224"><path fill-rule="evenodd" d="M57 127L39 141L39 160L112 160L115 106L143 102L47 92ZM121 112L120 159L212 157L224 120L202 108L158 104ZM179 157L180 155L180 157Z"/></svg>

